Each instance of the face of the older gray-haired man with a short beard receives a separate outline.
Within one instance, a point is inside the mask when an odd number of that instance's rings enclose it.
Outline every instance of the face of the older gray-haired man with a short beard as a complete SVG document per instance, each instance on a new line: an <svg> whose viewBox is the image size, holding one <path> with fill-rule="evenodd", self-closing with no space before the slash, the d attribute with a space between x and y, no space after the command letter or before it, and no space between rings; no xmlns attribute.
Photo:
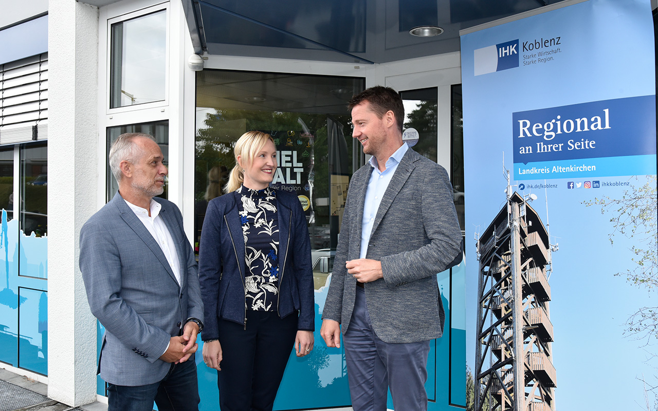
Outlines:
<svg viewBox="0 0 658 411"><path fill-rule="evenodd" d="M164 191L164 178L168 174L163 164L164 155L159 145L151 139L138 137L134 144L141 149L142 155L132 164L130 187L150 200Z"/></svg>

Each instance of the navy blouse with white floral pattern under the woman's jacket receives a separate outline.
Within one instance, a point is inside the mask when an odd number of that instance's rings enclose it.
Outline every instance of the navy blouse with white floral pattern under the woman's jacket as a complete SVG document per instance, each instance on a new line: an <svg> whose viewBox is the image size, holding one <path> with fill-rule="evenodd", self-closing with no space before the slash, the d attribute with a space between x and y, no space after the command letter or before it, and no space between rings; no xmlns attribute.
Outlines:
<svg viewBox="0 0 658 411"><path fill-rule="evenodd" d="M255 311L276 311L279 229L276 192L243 185L235 191L245 239L245 304Z"/></svg>

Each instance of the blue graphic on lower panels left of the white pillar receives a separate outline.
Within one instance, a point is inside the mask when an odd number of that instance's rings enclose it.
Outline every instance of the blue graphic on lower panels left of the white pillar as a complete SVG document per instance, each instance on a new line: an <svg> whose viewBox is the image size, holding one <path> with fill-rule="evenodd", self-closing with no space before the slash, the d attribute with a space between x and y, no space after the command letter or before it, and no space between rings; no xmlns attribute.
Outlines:
<svg viewBox="0 0 658 411"><path fill-rule="evenodd" d="M0 361L38 374L48 372L48 238L30 236L7 221L0 231Z"/></svg>

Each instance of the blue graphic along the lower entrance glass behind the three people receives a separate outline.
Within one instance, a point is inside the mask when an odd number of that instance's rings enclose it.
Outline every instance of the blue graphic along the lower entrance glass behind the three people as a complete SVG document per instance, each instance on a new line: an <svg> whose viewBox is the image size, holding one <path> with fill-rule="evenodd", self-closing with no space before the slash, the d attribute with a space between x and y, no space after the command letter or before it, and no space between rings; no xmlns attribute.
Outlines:
<svg viewBox="0 0 658 411"><path fill-rule="evenodd" d="M438 274L446 322L443 337L430 344L429 376L426 383L428 397L432 400L428 404L429 410L453 410L455 408L450 405L450 402L460 408L463 408L463 404L466 403L464 266L465 262L461 262L451 271ZM334 408L351 405L345 352L342 344L340 349L327 348L320 337L321 314L330 281L331 276L328 276L326 285L315 290L316 329L313 333L315 338L313 352L298 358L291 347L288 366L274 401L274 410ZM454 296L454 302L451 302L451 295ZM451 307L454 308L451 309ZM105 327L97 323L97 356L100 353L104 332ZM199 350L195 353L194 361L197 364L201 397L199 410L216 410L219 401L217 372L203 363L201 337L197 338L197 343ZM105 381L101 377L97 377L97 393L106 395ZM390 395L388 402L388 408L392 409L393 403ZM154 409L157 409L155 404Z"/></svg>

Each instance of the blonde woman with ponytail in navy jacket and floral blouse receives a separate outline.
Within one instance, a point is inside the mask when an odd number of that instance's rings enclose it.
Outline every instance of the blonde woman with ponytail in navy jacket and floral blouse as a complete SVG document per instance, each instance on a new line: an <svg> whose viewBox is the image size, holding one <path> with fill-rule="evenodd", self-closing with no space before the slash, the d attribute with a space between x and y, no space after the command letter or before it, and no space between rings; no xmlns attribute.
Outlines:
<svg viewBox="0 0 658 411"><path fill-rule="evenodd" d="M272 137L244 133L234 151L201 231L203 361L217 370L222 411L272 410L291 349L313 350L311 244L297 196L270 187Z"/></svg>

